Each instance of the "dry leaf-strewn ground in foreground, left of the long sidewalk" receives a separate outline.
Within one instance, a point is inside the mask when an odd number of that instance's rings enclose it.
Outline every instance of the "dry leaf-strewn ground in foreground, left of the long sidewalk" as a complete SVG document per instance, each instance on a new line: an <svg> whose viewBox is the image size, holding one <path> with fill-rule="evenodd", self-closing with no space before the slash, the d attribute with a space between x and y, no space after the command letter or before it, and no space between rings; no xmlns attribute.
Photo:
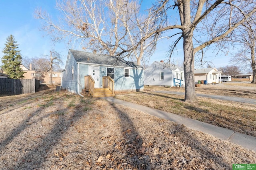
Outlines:
<svg viewBox="0 0 256 170"><path fill-rule="evenodd" d="M256 152L56 87L0 97L0 169L229 170Z"/></svg>

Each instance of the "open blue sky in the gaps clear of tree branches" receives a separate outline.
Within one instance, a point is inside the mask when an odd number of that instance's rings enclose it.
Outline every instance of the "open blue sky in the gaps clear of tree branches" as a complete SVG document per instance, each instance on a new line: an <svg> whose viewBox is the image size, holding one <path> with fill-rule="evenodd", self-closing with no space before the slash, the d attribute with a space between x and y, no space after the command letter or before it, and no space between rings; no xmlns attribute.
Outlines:
<svg viewBox="0 0 256 170"><path fill-rule="evenodd" d="M150 6L151 4L146 0L143 0L142 3L144 6ZM2 50L5 47L6 37L12 34L19 44L23 57L49 55L49 51L54 49L60 52L63 57L62 61L65 63L70 47L65 43L53 44L50 37L45 32L40 31L41 21L34 18L34 11L38 7L46 10L50 16L55 16L57 13L55 4L55 0L0 0L0 20L2 23L0 26L0 57L3 56ZM170 39L160 41L149 64L153 61L165 60L169 44ZM182 63L182 46L178 47L178 55L176 52L175 54L171 61ZM224 56L224 54L216 56L216 53L207 51L205 57L206 60L212 61L217 68L230 64L228 62L230 57Z"/></svg>

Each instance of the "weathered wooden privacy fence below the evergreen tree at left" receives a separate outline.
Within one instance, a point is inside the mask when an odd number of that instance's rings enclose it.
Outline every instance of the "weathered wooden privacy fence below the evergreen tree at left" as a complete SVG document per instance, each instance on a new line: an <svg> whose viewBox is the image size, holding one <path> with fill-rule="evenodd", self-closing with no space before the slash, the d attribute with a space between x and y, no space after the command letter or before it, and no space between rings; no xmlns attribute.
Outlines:
<svg viewBox="0 0 256 170"><path fill-rule="evenodd" d="M35 93L39 87L39 80L0 78L0 94L28 94Z"/></svg>

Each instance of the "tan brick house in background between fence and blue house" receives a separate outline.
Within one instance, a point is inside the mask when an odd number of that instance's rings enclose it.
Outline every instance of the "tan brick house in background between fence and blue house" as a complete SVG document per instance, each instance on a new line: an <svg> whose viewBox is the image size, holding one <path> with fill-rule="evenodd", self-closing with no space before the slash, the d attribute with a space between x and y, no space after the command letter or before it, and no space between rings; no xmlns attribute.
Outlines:
<svg viewBox="0 0 256 170"><path fill-rule="evenodd" d="M24 65L20 65L20 68L22 69L22 71L25 72L23 74L23 76L24 76L23 79L36 78L36 79L40 80L40 83L50 84L50 74L45 73L45 72L40 71L40 70L33 70L31 63L30 63L30 68L29 69L26 68ZM59 71L53 72L53 74L52 74L52 83L53 84L60 84L61 83L61 72L59 72Z"/></svg>

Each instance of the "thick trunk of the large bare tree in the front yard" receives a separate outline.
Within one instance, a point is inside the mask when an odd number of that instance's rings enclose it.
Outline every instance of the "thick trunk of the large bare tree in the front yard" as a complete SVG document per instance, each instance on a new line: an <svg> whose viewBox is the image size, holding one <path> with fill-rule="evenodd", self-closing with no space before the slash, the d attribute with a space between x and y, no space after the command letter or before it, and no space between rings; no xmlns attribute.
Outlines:
<svg viewBox="0 0 256 170"><path fill-rule="evenodd" d="M184 49L184 76L185 76L185 99L184 102L196 103L195 77L194 77L194 48L190 29L183 31Z"/></svg>

